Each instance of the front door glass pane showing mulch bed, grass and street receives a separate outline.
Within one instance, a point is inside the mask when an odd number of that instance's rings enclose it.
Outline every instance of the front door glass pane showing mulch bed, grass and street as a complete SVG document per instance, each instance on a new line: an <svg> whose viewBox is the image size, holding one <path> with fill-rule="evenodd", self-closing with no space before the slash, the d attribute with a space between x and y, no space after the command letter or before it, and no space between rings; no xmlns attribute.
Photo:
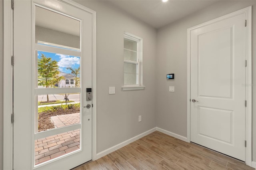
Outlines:
<svg viewBox="0 0 256 170"><path fill-rule="evenodd" d="M80 123L80 93L38 95L37 117L38 132Z"/></svg>

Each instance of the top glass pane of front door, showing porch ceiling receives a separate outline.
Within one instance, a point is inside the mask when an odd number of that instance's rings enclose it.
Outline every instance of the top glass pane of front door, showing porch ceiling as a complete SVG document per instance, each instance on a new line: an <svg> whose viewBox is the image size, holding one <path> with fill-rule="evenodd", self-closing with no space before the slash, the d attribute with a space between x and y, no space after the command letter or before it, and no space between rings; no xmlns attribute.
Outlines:
<svg viewBox="0 0 256 170"><path fill-rule="evenodd" d="M35 43L80 51L80 21L36 6Z"/></svg>

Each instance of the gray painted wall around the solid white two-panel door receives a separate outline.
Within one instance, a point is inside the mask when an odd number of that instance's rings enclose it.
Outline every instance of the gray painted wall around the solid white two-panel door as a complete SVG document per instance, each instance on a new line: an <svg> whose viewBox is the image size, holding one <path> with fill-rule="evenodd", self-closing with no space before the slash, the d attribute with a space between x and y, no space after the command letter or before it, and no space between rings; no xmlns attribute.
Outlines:
<svg viewBox="0 0 256 170"><path fill-rule="evenodd" d="M157 32L156 125L186 137L187 29L252 5L253 160L256 160L256 1L218 1ZM166 81L175 73L174 81ZM175 92L168 92L175 86Z"/></svg>

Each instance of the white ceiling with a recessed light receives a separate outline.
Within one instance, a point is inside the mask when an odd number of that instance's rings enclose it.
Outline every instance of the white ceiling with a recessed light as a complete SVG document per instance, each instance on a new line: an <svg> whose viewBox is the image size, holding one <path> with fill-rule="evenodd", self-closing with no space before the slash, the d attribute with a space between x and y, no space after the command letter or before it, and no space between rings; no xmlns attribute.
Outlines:
<svg viewBox="0 0 256 170"><path fill-rule="evenodd" d="M210 6L216 0L107 0L154 28L161 28Z"/></svg>

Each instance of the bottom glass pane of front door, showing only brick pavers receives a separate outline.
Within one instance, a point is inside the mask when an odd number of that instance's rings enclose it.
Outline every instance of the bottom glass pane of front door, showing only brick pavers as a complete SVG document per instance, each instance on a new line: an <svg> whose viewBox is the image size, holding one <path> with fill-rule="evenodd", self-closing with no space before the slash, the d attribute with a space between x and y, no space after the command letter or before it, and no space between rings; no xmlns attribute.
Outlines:
<svg viewBox="0 0 256 170"><path fill-rule="evenodd" d="M80 149L80 129L35 140L35 165Z"/></svg>

